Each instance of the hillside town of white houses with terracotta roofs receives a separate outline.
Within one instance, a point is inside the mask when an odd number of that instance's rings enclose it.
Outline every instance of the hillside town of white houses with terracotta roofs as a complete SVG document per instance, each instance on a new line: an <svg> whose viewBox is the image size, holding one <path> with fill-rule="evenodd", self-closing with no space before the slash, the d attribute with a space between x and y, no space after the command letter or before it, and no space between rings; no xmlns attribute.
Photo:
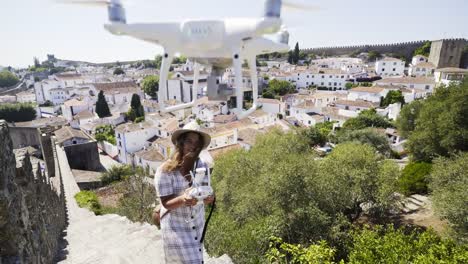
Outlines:
<svg viewBox="0 0 468 264"><path fill-rule="evenodd" d="M178 57L164 93L159 91L160 55L155 60L106 64L48 55L46 61L35 61L28 69L0 67L17 78L17 83L0 89L0 106L26 105L34 110L24 113L32 118L22 119L21 110L17 117L22 120L7 120L18 164L22 162L19 157L26 155L31 170L47 176L40 181L50 181L55 188L63 182L54 182L54 176L69 170L70 179L79 187L73 191L101 192L109 202L121 196L107 194L109 189L102 188L108 185L103 175L127 165L146 170L144 181L152 185L158 168L176 151L171 136L187 124L196 124L211 136L207 151L215 160L233 150L248 153L259 135L271 131L329 127L327 137L311 146L314 160L325 160L338 145L328 135L346 128L347 121L369 114L395 124L405 105L423 102L437 89L468 78L467 40L435 40L425 46L421 54L405 57L376 51L314 54L296 44L289 53L257 56L257 80L252 80L244 64L242 87L235 86L234 68L221 73L203 65L195 69L198 65L190 58ZM257 106L245 118L235 112L238 89L244 109ZM165 109L181 104L188 107ZM385 159L400 169L411 162L407 135L395 125L375 131L390 146ZM58 160L66 160L67 165L57 165ZM427 196L414 194L400 209L414 212L427 201Z"/></svg>

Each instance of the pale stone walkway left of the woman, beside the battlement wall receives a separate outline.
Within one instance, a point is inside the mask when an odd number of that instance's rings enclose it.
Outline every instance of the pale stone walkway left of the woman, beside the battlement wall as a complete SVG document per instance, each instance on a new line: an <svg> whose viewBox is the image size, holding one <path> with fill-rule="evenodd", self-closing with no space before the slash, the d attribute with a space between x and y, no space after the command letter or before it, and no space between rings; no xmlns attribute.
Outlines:
<svg viewBox="0 0 468 264"><path fill-rule="evenodd" d="M133 223L119 215L96 216L91 211L80 208L74 199L79 188L66 154L57 146L56 155L68 212L68 228L64 234L58 263L164 263L161 233L155 226ZM226 255L210 258L205 252L205 263L227 264L232 261Z"/></svg>

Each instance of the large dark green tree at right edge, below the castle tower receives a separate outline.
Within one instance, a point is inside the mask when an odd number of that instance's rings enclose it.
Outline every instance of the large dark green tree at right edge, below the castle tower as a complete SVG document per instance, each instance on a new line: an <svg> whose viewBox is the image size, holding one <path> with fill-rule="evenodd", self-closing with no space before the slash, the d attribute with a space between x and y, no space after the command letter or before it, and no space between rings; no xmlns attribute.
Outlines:
<svg viewBox="0 0 468 264"><path fill-rule="evenodd" d="M406 148L416 161L468 151L468 79L438 87L422 104ZM411 123L409 121L401 121Z"/></svg>

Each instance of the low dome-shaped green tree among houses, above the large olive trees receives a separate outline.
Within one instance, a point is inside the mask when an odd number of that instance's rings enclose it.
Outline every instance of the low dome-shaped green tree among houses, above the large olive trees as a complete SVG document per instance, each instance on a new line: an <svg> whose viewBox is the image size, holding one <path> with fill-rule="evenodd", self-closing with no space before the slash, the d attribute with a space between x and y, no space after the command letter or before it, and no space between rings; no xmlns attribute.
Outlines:
<svg viewBox="0 0 468 264"><path fill-rule="evenodd" d="M343 124L343 129L358 130L366 127L391 127L392 124L383 116L377 114L375 109L363 110L358 117L350 118Z"/></svg>

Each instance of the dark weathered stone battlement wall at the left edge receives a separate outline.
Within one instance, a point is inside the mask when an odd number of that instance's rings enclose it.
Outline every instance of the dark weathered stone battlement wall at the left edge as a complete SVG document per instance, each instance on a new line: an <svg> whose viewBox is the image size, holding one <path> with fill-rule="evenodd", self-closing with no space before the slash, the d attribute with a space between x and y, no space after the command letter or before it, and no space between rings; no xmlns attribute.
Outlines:
<svg viewBox="0 0 468 264"><path fill-rule="evenodd" d="M0 121L0 263L53 263L66 226L63 185L16 160L6 122Z"/></svg>

